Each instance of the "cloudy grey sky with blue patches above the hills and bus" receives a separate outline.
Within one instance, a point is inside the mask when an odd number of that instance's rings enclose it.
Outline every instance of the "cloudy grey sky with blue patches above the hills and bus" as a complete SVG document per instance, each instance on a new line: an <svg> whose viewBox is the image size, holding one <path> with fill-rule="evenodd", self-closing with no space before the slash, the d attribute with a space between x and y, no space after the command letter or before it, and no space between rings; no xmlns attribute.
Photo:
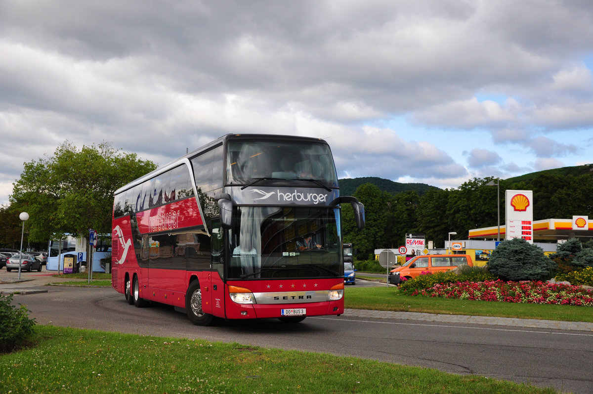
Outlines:
<svg viewBox="0 0 593 394"><path fill-rule="evenodd" d="M0 53L0 204L66 139L314 136L441 188L593 162L589 0L2 1Z"/></svg>

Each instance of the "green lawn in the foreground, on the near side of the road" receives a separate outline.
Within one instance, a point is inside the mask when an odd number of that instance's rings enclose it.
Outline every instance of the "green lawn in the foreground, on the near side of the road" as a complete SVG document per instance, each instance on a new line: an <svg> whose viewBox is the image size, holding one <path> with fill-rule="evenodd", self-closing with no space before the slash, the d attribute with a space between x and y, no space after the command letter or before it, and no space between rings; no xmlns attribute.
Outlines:
<svg viewBox="0 0 593 394"><path fill-rule="evenodd" d="M36 341L35 348L0 355L0 392L556 393L427 368L201 339L36 326Z"/></svg>

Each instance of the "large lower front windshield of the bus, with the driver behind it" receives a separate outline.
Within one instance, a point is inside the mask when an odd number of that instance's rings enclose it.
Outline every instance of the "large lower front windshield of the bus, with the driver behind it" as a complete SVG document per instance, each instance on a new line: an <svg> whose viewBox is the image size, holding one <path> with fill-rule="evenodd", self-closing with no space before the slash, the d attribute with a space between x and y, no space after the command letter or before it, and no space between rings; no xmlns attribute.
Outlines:
<svg viewBox="0 0 593 394"><path fill-rule="evenodd" d="M227 279L342 276L337 218L337 208L235 208Z"/></svg>

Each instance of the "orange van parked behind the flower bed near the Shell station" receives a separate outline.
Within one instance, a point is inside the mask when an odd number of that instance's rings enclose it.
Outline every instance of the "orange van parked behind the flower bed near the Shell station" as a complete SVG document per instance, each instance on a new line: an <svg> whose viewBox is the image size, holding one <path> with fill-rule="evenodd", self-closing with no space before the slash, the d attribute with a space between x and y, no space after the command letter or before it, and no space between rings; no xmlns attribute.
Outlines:
<svg viewBox="0 0 593 394"><path fill-rule="evenodd" d="M397 285L400 283L401 278L416 278L420 275L420 272L430 271L434 274L439 271L449 271L465 264L474 265L470 255L417 256L407 260L402 266L392 269L389 273L389 283Z"/></svg>

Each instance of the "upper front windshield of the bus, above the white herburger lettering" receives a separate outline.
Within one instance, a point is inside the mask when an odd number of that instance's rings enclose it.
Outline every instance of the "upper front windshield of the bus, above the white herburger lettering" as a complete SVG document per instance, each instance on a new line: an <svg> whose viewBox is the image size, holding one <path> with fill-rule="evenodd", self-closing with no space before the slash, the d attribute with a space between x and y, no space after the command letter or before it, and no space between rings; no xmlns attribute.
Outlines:
<svg viewBox="0 0 593 394"><path fill-rule="evenodd" d="M257 178L315 179L337 187L329 146L313 141L229 141L227 183L244 185Z"/></svg>

